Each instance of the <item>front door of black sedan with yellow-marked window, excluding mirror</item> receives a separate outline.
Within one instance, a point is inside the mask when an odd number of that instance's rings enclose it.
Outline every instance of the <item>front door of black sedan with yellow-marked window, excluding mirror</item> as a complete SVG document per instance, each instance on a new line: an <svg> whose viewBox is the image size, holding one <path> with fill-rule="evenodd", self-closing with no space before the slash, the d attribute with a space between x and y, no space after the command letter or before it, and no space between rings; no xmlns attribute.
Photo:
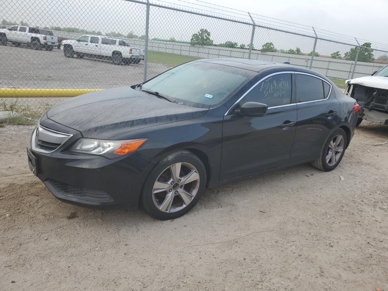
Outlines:
<svg viewBox="0 0 388 291"><path fill-rule="evenodd" d="M249 89L236 105L268 105L262 117L231 110L224 117L220 180L249 175L289 163L296 122L293 73L274 73ZM233 109L233 108L231 108Z"/></svg>

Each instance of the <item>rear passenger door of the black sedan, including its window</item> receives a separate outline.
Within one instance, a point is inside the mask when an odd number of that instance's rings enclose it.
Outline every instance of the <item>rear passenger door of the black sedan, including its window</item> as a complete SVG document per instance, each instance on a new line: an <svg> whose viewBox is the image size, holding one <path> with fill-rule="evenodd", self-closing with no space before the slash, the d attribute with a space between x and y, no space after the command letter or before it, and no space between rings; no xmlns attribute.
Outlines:
<svg viewBox="0 0 388 291"><path fill-rule="evenodd" d="M291 163L316 158L340 114L340 102L329 82L314 74L295 72L295 76L298 120Z"/></svg>

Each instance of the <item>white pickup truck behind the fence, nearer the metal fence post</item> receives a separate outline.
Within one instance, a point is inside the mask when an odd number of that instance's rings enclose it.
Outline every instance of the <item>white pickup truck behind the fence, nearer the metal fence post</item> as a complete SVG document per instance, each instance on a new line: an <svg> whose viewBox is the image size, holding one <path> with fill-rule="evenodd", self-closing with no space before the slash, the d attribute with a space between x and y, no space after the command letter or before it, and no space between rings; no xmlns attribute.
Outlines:
<svg viewBox="0 0 388 291"><path fill-rule="evenodd" d="M140 62L140 50L121 45L112 45L107 36L83 35L77 40L64 40L61 50L65 57L79 58L93 57L97 59L111 59L113 64L120 65L123 62ZM138 61L139 60L139 61Z"/></svg>

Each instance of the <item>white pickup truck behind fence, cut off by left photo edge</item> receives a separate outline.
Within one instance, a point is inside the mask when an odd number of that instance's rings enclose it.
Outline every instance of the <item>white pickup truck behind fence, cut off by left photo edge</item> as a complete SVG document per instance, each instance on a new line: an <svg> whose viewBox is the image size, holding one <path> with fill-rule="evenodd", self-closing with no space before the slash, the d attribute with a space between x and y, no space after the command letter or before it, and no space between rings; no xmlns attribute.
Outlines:
<svg viewBox="0 0 388 291"><path fill-rule="evenodd" d="M7 29L0 29L0 45L6 45L7 42L17 47L24 43L36 50L41 48L52 50L58 45L58 38L54 35L43 35L38 28L14 25Z"/></svg>

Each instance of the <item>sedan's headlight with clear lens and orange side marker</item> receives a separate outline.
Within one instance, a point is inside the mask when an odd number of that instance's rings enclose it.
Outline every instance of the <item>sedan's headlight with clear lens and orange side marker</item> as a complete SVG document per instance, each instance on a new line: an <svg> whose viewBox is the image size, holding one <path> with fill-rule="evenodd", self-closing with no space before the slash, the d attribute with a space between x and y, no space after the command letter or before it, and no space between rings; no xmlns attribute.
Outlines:
<svg viewBox="0 0 388 291"><path fill-rule="evenodd" d="M71 152L81 152L83 154L97 154L108 159L135 152L148 139L129 140L101 140L101 139L79 139L71 147Z"/></svg>

